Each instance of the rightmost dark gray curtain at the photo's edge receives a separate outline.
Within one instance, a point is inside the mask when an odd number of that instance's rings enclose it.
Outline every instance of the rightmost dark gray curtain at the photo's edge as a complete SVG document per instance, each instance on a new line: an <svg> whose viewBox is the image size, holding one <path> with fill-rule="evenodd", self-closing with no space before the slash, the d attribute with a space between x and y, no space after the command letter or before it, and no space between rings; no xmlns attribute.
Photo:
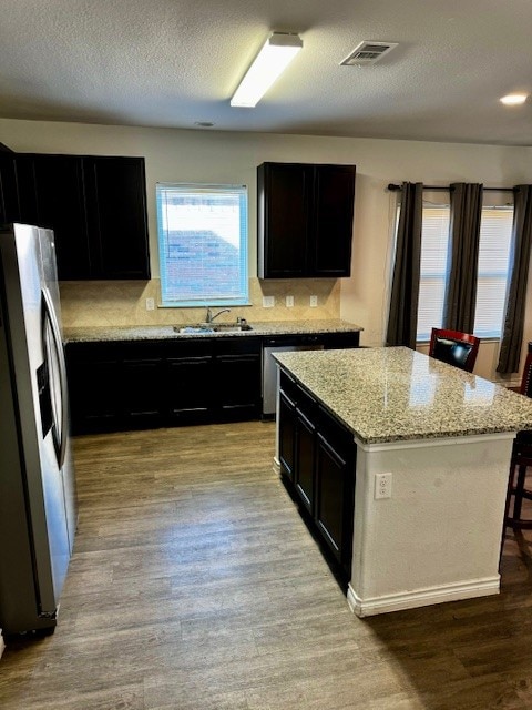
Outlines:
<svg viewBox="0 0 532 710"><path fill-rule="evenodd" d="M524 306L532 242L532 185L518 185L514 195L512 247L509 264L507 311L498 373L519 372L523 343Z"/></svg>

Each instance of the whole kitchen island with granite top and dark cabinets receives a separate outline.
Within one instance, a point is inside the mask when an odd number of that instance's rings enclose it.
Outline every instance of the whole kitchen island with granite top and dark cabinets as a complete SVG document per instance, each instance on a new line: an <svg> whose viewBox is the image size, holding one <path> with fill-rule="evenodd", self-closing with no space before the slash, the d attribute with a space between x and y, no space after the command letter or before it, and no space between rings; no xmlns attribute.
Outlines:
<svg viewBox="0 0 532 710"><path fill-rule="evenodd" d="M340 562L347 549L352 611L497 594L512 440L532 429L532 400L403 347L276 358L276 463ZM327 444L324 416L348 433L352 454L345 437L344 452ZM324 442L334 460L325 467Z"/></svg>

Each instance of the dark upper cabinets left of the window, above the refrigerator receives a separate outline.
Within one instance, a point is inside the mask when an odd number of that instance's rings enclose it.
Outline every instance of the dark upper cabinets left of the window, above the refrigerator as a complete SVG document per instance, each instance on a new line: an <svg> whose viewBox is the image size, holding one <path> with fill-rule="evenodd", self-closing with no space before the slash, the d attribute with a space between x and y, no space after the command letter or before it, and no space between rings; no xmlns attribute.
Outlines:
<svg viewBox="0 0 532 710"><path fill-rule="evenodd" d="M61 281L150 277L143 158L1 153L0 220L52 229Z"/></svg>

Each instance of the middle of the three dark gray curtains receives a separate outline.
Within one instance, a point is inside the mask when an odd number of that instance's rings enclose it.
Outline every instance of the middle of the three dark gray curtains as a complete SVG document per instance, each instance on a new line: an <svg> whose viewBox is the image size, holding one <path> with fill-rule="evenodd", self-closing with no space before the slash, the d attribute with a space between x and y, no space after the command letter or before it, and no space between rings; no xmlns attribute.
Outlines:
<svg viewBox="0 0 532 710"><path fill-rule="evenodd" d="M443 327L462 333L474 328L477 271L479 263L482 185L451 185L451 221Z"/></svg>

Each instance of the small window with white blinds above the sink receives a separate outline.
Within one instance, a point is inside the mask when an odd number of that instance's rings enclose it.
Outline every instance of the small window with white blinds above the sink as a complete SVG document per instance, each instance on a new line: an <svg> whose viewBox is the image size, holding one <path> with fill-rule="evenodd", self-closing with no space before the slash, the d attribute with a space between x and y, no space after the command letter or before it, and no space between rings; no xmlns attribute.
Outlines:
<svg viewBox="0 0 532 710"><path fill-rule="evenodd" d="M172 197L184 204L172 205ZM228 201L226 214L217 214L216 207L201 212L202 200L224 199ZM186 202L188 201L188 204ZM197 203L196 203L197 202ZM245 185L214 185L192 183L157 183L157 234L161 271L161 305L163 307L186 306L237 306L249 304L248 281L248 196ZM174 209L173 209L174 207ZM221 209L223 206L221 205ZM180 215L178 211L182 214ZM209 214L211 212L211 214ZM175 229L175 227L182 227ZM196 229L194 229L196 227ZM186 236L180 244L172 244L172 232L190 231L191 244L197 247L197 261L183 258ZM208 240L213 240L209 242ZM214 248L211 246L214 245ZM235 247L235 261L216 264L216 248L223 254L224 245ZM178 250L181 248L181 256ZM226 255L227 258L227 255ZM214 260L214 263L213 263ZM180 264L181 262L181 264ZM217 268L227 268L227 280ZM197 278L193 278L193 267ZM213 274L217 276L213 277ZM219 276L219 277L218 277Z"/></svg>

